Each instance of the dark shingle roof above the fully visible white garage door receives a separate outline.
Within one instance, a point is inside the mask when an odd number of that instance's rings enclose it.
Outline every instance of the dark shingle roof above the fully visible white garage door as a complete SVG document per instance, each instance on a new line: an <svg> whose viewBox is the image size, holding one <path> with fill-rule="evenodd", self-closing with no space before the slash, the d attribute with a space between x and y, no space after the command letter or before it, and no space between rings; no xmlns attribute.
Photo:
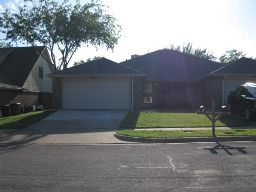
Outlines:
<svg viewBox="0 0 256 192"><path fill-rule="evenodd" d="M65 76L65 75L143 75L142 72L134 70L130 67L100 58L85 64L73 66L48 76Z"/></svg>

